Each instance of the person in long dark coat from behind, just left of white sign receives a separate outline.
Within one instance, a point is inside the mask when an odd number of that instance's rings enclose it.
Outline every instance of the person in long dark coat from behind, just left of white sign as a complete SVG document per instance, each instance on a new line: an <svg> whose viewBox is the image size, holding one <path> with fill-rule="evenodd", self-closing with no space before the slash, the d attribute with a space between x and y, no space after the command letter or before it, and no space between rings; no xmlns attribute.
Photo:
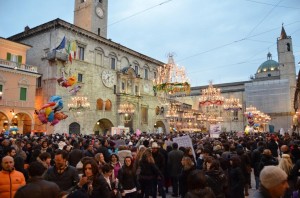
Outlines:
<svg viewBox="0 0 300 198"><path fill-rule="evenodd" d="M182 165L181 159L183 152L178 150L178 144L174 142L172 144L173 150L168 154L168 170L172 181L172 196L178 197L179 193L179 176L181 173Z"/></svg>

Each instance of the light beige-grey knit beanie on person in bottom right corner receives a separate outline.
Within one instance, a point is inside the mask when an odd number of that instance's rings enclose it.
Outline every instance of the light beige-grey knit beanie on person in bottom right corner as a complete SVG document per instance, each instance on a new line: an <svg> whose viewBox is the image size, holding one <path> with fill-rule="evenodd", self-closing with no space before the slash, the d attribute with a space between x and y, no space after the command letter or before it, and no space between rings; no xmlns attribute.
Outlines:
<svg viewBox="0 0 300 198"><path fill-rule="evenodd" d="M266 189L270 189L287 180L287 174L277 166L265 166L260 172L259 179Z"/></svg>

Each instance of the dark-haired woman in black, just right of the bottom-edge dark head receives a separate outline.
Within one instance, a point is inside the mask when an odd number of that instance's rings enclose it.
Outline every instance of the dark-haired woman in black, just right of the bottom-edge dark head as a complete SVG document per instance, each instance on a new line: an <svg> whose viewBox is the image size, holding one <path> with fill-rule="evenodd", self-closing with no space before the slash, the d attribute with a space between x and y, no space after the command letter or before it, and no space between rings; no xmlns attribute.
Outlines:
<svg viewBox="0 0 300 198"><path fill-rule="evenodd" d="M207 177L207 184L212 189L215 196L217 198L224 198L227 178L220 168L219 161L213 157L207 157L204 161L204 173Z"/></svg>

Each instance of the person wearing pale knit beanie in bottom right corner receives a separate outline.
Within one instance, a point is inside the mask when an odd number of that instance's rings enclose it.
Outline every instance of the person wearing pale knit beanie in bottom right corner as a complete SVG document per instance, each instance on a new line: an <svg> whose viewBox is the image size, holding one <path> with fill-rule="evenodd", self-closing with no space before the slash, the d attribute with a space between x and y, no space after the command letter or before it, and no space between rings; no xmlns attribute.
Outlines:
<svg viewBox="0 0 300 198"><path fill-rule="evenodd" d="M279 198L289 188L288 175L277 166L265 166L260 175L260 188L254 198Z"/></svg>

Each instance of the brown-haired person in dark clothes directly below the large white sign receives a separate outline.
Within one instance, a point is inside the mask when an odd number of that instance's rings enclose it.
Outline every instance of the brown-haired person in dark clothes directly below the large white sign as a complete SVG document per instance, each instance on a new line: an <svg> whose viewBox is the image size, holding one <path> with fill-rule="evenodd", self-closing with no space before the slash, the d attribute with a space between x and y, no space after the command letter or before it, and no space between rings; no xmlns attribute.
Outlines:
<svg viewBox="0 0 300 198"><path fill-rule="evenodd" d="M190 173L195 170L195 164L189 156L184 156L181 160L182 171L179 177L179 194L182 198L188 191L187 181Z"/></svg>

